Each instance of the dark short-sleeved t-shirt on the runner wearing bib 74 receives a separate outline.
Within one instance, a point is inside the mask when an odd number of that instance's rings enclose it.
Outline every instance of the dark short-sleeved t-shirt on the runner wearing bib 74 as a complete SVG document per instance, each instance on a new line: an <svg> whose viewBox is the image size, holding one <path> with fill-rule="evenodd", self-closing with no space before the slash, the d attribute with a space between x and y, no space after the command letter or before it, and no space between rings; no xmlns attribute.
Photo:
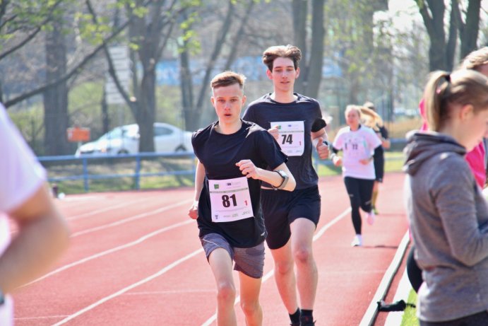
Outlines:
<svg viewBox="0 0 488 326"><path fill-rule="evenodd" d="M300 156L288 156L287 167L297 182L296 190L313 187L317 185L319 177L311 161L310 137L311 132L318 132L325 127L319 102L314 98L294 93L297 100L292 103L279 103L272 100L270 95L268 93L250 103L242 119L255 122L266 130L273 127L270 122L303 121L304 151ZM287 139L279 139L278 142L281 141L287 141Z"/></svg>

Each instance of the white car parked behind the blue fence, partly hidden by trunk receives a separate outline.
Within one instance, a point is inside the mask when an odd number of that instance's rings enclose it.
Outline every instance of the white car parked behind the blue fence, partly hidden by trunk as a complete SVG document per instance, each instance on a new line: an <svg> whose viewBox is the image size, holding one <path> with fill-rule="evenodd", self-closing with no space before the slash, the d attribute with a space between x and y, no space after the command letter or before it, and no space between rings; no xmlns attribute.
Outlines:
<svg viewBox="0 0 488 326"><path fill-rule="evenodd" d="M191 132L186 132L172 124L155 122L154 147L156 152L193 151ZM96 141L81 145L75 155L84 154L134 154L139 149L138 124L116 127Z"/></svg>

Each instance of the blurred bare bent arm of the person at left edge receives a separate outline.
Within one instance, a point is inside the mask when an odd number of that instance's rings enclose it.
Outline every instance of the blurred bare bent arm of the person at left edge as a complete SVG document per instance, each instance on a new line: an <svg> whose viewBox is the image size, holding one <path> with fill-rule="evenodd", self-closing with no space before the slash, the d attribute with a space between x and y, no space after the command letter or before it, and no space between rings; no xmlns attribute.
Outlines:
<svg viewBox="0 0 488 326"><path fill-rule="evenodd" d="M69 244L69 228L44 185L8 215L18 234L0 257L4 293L41 276Z"/></svg>

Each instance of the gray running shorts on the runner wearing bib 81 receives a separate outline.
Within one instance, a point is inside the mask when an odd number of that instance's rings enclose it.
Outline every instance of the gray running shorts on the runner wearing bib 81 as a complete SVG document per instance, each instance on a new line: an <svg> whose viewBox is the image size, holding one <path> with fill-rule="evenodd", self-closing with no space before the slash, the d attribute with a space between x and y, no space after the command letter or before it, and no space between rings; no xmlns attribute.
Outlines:
<svg viewBox="0 0 488 326"><path fill-rule="evenodd" d="M234 270L242 272L254 279L263 277L264 269L264 242L251 248L232 248L225 238L218 233L210 233L200 238L205 255L217 248L223 248L229 252L230 258L234 260Z"/></svg>

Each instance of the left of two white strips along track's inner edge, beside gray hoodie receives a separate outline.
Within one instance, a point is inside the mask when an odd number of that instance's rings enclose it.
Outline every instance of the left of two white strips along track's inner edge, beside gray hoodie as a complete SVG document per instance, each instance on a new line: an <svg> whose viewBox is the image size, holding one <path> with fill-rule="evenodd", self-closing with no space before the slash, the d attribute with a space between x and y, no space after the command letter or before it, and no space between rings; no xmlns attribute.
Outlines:
<svg viewBox="0 0 488 326"><path fill-rule="evenodd" d="M400 245L398 245L398 249L396 250L395 257L393 257L390 266L388 267L388 269L386 269L386 272L383 275L383 279L381 279L381 283L379 284L376 293L374 293L374 296L371 299L369 307L366 310L366 313L364 313L363 318L359 323L359 326L374 325L376 315L378 315L377 302L385 298L386 292L390 288L391 281L393 281L393 277L395 276L396 272L398 272L398 267L400 267L400 264L402 263L403 255L405 255L405 251L408 248L408 243L410 243L409 231L407 231L405 235L403 235L403 239L400 242Z"/></svg>

